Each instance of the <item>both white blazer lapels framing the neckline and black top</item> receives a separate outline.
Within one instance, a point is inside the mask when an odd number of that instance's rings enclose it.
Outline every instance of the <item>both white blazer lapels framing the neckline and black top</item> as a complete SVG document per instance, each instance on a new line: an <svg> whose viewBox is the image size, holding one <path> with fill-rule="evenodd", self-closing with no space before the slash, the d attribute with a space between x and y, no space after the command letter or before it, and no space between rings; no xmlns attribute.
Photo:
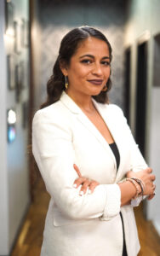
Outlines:
<svg viewBox="0 0 160 256"><path fill-rule="evenodd" d="M111 159L114 162L114 167L115 171L117 170L117 163L115 156L109 146L109 144L106 142L106 139L100 134L100 131L94 126L94 124L89 120L89 118L83 113L81 108L77 106L77 104L71 99L70 96L66 94L66 92L62 93L62 96L60 97L60 101L68 108L71 113L74 113L78 119L79 122L81 122L86 129L88 129L94 137L96 137L97 141L101 143L101 145L104 147L106 150L107 154L110 154ZM125 160L126 160L126 146L125 143L123 143L122 138L121 138L121 132L118 129L118 123L117 123L117 117L115 116L112 111L110 111L109 106L106 104L100 104L98 102L94 102L95 108L97 108L98 112L100 113L101 117L104 119L106 122L106 125L108 129L111 132L111 135L117 144L117 148L120 154L120 165L117 170L117 175L115 177L115 183L118 182L119 178L121 178L122 172L123 172L123 166L125 165Z"/></svg>

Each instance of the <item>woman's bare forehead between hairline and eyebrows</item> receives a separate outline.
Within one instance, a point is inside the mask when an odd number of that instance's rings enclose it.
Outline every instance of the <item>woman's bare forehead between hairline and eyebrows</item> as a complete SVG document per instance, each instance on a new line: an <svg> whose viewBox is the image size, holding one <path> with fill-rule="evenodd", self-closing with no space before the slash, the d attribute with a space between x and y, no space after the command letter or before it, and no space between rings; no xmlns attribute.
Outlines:
<svg viewBox="0 0 160 256"><path fill-rule="evenodd" d="M83 40L82 43L79 44L75 55L101 55L101 56L109 56L108 45L105 41L100 40L98 38L89 37Z"/></svg>

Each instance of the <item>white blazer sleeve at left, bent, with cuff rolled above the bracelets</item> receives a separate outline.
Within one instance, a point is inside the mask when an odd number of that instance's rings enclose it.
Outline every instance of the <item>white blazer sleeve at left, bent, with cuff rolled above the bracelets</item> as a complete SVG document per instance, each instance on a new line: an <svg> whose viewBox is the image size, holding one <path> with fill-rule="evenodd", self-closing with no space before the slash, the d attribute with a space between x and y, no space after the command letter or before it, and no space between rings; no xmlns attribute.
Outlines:
<svg viewBox="0 0 160 256"><path fill-rule="evenodd" d="M100 184L94 193L80 196L73 188L72 130L60 115L37 111L32 122L32 152L46 189L60 211L72 219L109 220L120 212L121 191L117 184Z"/></svg>

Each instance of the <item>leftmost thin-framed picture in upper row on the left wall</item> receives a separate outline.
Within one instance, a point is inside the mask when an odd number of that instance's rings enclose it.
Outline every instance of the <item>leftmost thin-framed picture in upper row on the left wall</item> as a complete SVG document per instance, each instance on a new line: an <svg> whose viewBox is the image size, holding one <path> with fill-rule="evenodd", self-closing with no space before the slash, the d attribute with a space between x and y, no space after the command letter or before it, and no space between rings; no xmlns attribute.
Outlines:
<svg viewBox="0 0 160 256"><path fill-rule="evenodd" d="M14 20L14 52L20 55L21 51L21 27L18 20Z"/></svg>

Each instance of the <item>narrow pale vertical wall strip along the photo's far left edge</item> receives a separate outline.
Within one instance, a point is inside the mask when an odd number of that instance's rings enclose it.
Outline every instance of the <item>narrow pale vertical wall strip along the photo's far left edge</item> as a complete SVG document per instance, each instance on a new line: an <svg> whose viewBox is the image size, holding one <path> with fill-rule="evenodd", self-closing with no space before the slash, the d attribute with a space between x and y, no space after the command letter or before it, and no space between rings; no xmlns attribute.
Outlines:
<svg viewBox="0 0 160 256"><path fill-rule="evenodd" d="M4 32L4 1L0 0L0 36ZM6 144L6 56L0 37L0 254L9 253L9 201Z"/></svg>

